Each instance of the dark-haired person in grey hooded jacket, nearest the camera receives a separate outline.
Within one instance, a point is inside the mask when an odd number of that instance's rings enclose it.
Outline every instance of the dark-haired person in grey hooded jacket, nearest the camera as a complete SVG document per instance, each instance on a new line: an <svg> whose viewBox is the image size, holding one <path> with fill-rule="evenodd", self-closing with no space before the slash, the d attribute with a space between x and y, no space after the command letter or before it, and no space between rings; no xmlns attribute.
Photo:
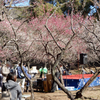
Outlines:
<svg viewBox="0 0 100 100"><path fill-rule="evenodd" d="M10 100L21 100L22 93L20 85L16 82L16 75L14 73L9 73L4 86L10 91Z"/></svg>

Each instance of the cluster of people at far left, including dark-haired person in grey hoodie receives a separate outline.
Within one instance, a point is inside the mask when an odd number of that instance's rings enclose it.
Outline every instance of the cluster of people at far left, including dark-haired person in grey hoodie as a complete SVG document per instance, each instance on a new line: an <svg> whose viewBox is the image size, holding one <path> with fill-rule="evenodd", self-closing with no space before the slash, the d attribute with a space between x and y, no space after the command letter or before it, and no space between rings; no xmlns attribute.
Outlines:
<svg viewBox="0 0 100 100"><path fill-rule="evenodd" d="M32 77L28 73L25 64L23 64L22 67L25 74L28 76L29 79L31 79ZM16 81L18 78L23 80L23 83L21 85L22 87L20 87L20 85ZM24 76L21 70L21 63L13 71L7 65L0 66L0 89L2 92L2 97L5 91L7 92L9 91L10 100L21 100L22 88L24 89L25 79L26 77ZM27 81L26 90L28 89L28 87L29 87L29 81Z"/></svg>

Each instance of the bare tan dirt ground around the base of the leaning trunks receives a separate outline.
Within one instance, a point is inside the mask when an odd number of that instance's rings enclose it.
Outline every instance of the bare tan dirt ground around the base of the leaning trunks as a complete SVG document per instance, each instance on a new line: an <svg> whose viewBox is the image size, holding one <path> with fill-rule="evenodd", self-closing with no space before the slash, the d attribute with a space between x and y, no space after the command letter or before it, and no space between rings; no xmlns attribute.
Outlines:
<svg viewBox="0 0 100 100"><path fill-rule="evenodd" d="M71 91L75 97L77 91ZM24 94L30 94L30 92L24 92ZM35 100L70 100L67 95L62 91L58 90L54 93L43 93L43 92L34 92ZM26 100L29 100L27 98ZM100 86L88 87L88 89L83 93L83 98L75 100L100 100Z"/></svg>

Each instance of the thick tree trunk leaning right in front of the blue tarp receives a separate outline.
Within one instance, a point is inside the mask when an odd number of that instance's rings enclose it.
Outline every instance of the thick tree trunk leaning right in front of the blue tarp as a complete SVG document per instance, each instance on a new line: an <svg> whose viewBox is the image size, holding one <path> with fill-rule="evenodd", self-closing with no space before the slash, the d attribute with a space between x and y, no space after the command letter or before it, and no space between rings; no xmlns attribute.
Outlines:
<svg viewBox="0 0 100 100"><path fill-rule="evenodd" d="M81 98L82 93L87 89L87 87L93 82L93 80L99 75L100 69L98 69L95 74L89 79L89 81L76 93L75 98Z"/></svg>

